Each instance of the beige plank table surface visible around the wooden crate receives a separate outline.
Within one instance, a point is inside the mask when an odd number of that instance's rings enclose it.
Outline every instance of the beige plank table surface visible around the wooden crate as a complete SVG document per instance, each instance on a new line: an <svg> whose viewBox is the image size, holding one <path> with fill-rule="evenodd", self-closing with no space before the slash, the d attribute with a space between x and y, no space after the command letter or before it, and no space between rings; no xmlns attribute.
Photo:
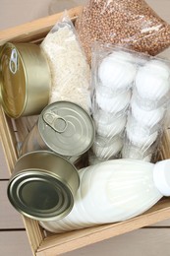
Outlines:
<svg viewBox="0 0 170 256"><path fill-rule="evenodd" d="M54 1L54 0L53 0ZM62 11L85 0L0 0L0 30ZM170 0L147 0L161 18L170 23ZM170 49L164 52L170 58ZM0 256L31 256L22 217L9 204L6 187L8 165L0 142ZM142 228L85 248L67 253L68 256L169 256L170 220Z"/></svg>

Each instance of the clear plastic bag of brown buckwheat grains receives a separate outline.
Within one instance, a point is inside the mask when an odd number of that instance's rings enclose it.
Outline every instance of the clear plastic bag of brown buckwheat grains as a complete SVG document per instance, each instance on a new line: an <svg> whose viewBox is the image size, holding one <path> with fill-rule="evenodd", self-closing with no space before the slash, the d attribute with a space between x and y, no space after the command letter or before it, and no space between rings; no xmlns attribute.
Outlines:
<svg viewBox="0 0 170 256"><path fill-rule="evenodd" d="M89 61L95 40L150 55L170 45L170 25L144 0L88 0L76 29Z"/></svg>

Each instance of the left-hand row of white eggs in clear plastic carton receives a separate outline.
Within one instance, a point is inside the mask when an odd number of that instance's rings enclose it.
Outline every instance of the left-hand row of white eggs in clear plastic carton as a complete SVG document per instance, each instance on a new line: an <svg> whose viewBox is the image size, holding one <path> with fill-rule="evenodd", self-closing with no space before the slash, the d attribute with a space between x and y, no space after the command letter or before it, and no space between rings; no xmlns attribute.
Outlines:
<svg viewBox="0 0 170 256"><path fill-rule="evenodd" d="M92 151L99 160L119 158L137 73L136 58L128 50L96 42L91 69L92 117L96 129Z"/></svg>

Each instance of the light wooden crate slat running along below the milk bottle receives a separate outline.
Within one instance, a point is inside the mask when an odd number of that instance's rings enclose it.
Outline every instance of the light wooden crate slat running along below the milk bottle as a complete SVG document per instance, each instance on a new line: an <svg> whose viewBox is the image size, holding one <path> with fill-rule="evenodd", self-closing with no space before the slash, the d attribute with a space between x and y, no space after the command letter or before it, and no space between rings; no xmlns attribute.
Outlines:
<svg viewBox="0 0 170 256"><path fill-rule="evenodd" d="M44 239L36 255L56 256L167 219L170 219L170 205L166 199L142 216L123 223L105 224L49 236Z"/></svg>

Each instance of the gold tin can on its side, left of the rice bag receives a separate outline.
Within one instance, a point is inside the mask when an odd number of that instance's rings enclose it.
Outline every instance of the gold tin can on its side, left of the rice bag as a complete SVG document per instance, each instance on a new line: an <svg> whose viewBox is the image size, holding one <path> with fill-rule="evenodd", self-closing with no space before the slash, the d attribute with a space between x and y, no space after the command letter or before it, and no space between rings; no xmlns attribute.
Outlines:
<svg viewBox="0 0 170 256"><path fill-rule="evenodd" d="M4 44L0 51L0 76L1 103L10 117L39 114L47 105L50 69L38 45Z"/></svg>

